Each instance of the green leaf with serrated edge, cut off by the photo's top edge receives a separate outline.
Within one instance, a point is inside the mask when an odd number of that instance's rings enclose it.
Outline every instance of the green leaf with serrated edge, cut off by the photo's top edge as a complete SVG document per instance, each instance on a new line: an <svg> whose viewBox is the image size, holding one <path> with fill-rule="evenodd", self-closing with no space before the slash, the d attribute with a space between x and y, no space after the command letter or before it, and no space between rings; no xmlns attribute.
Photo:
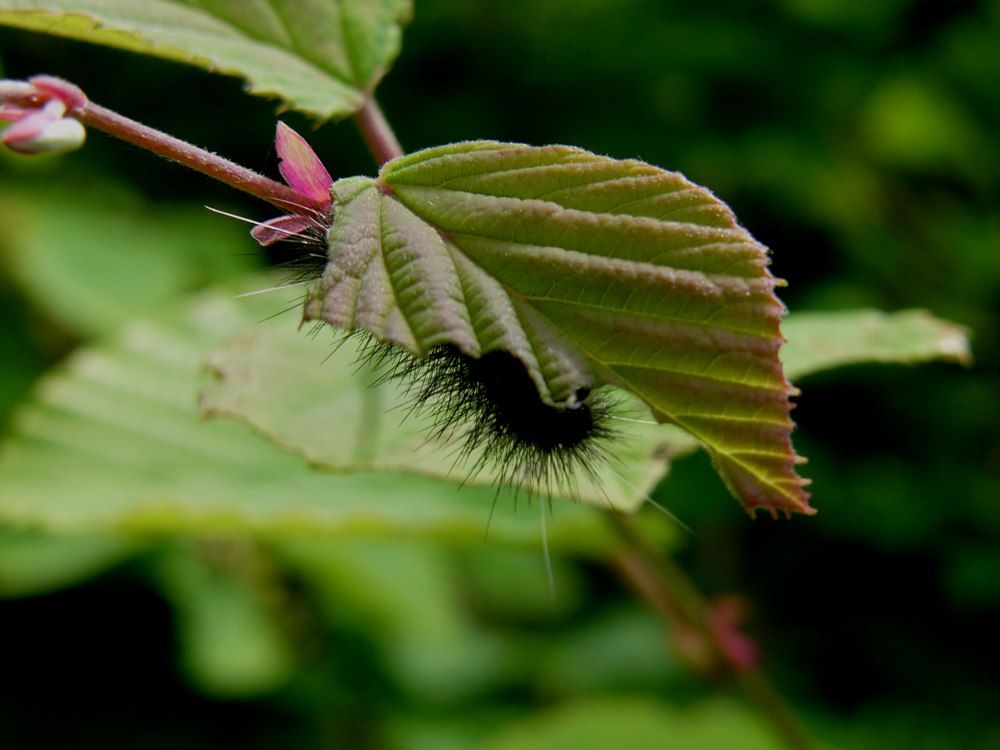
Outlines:
<svg viewBox="0 0 1000 750"><path fill-rule="evenodd" d="M0 24L237 75L328 119L364 104L411 12L410 0L8 0Z"/></svg>

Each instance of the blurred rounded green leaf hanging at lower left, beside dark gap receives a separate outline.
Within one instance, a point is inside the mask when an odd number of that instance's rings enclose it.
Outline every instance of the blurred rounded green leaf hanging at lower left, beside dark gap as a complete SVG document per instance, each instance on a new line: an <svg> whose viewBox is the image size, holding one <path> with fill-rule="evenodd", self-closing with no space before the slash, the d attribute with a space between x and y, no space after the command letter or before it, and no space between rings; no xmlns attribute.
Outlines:
<svg viewBox="0 0 1000 750"><path fill-rule="evenodd" d="M233 549L220 542L214 551L223 559L210 565L205 555L213 550L209 542L205 545L203 554L171 550L157 568L174 607L181 664L192 682L213 696L248 698L272 692L294 667L288 636L265 604L267 592L225 560Z"/></svg>

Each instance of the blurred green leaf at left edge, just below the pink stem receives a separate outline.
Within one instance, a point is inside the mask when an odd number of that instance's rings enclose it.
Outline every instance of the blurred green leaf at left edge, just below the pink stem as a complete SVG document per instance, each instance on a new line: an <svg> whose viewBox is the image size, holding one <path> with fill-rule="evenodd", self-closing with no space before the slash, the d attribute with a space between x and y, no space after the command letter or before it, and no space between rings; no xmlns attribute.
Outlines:
<svg viewBox="0 0 1000 750"><path fill-rule="evenodd" d="M36 305L82 335L254 265L235 222L200 206L147 204L110 182L6 184L0 224L0 261Z"/></svg>

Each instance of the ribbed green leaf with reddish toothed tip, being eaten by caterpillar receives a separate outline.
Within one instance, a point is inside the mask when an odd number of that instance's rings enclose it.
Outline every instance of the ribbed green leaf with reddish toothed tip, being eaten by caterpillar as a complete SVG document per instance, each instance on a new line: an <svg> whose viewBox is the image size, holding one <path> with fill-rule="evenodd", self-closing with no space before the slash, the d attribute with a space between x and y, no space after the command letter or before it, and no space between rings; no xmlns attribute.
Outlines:
<svg viewBox="0 0 1000 750"><path fill-rule="evenodd" d="M812 512L767 251L709 191L637 161L492 142L333 191L306 320L418 356L508 351L553 405L618 386L701 442L751 512Z"/></svg>

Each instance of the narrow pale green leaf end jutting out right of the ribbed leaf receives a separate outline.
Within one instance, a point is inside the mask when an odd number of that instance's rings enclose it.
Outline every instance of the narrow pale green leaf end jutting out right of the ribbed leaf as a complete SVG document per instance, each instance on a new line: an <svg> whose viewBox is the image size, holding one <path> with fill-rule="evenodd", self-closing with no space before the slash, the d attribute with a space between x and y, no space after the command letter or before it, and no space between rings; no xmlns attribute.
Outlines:
<svg viewBox="0 0 1000 750"><path fill-rule="evenodd" d="M781 360L791 378L862 362L969 364L972 359L965 329L924 310L793 313L782 329L788 343Z"/></svg>

